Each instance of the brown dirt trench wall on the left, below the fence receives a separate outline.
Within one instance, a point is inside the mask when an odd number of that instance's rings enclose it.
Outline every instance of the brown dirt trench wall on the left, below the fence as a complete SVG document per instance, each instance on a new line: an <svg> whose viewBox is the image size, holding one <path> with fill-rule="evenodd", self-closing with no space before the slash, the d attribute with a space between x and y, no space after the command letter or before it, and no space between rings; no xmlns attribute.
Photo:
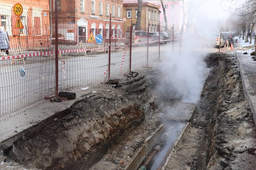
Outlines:
<svg viewBox="0 0 256 170"><path fill-rule="evenodd" d="M1 143L7 161L40 169L88 169L156 107L156 79L102 85L69 109Z"/></svg>

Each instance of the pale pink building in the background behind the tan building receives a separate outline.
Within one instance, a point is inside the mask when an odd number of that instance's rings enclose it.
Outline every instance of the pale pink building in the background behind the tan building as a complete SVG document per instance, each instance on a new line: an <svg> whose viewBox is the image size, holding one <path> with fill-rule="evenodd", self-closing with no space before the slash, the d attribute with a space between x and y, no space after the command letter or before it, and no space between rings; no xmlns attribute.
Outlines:
<svg viewBox="0 0 256 170"><path fill-rule="evenodd" d="M136 3L137 0L124 0L124 3ZM163 15L163 8L161 5L160 0L149 0L143 2L149 2L153 3L155 5L160 6L160 25L165 26L164 23L164 15ZM168 31L171 31L171 27L173 27L174 24L174 31L175 32L180 32L181 31L181 26L182 26L182 20L183 20L183 9L182 9L182 1L180 0L174 0L174 1L168 1L168 0L163 0L164 8L166 10L166 16L167 16L167 21L168 21ZM184 28L185 30L186 28Z"/></svg>

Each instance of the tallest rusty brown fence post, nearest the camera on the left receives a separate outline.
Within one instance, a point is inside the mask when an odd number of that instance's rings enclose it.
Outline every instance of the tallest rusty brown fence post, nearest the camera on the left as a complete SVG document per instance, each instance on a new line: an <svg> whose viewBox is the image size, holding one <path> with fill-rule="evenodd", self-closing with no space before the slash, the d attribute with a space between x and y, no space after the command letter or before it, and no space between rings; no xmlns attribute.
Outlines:
<svg viewBox="0 0 256 170"><path fill-rule="evenodd" d="M55 97L59 96L58 80L59 80L59 65L58 65L58 5L55 4Z"/></svg>

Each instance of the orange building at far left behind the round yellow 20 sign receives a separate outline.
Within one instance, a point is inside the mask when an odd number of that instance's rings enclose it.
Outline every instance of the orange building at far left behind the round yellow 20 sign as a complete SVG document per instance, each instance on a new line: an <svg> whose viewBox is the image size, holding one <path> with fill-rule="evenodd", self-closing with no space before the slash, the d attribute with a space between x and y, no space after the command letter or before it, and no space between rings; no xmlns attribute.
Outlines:
<svg viewBox="0 0 256 170"><path fill-rule="evenodd" d="M14 5L17 2L0 0L0 23L5 26L11 49L31 49L35 47L49 46L47 37L49 31L49 1L48 0L24 0L19 2L22 6L20 21L23 28L15 28L18 16L14 13ZM44 29L46 28L46 29Z"/></svg>

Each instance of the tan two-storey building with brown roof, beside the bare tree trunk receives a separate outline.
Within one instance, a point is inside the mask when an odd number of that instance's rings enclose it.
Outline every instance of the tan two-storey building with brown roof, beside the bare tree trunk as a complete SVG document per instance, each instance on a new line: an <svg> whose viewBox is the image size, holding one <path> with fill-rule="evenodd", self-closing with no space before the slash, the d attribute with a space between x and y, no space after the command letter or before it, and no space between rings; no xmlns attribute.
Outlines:
<svg viewBox="0 0 256 170"><path fill-rule="evenodd" d="M148 31L149 23L149 32L157 31L157 26L160 21L160 10L159 6L152 3L143 2L141 9L141 30ZM126 18L126 21L123 23L124 31L128 31L131 26L131 20L133 20L133 30L135 29L135 24L137 20L137 10L138 3L123 3L123 16Z"/></svg>

